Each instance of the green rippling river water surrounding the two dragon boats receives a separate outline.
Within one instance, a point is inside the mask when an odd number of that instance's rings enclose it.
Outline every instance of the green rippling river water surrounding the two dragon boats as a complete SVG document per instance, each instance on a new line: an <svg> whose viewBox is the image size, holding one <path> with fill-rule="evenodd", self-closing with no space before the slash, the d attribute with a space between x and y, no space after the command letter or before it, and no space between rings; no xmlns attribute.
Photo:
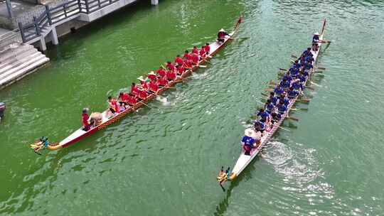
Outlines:
<svg viewBox="0 0 384 216"><path fill-rule="evenodd" d="M384 215L383 1L161 0L129 6L60 38L50 64L0 92L0 215ZM188 82L60 151L81 110L243 16L238 37ZM308 110L227 184L240 138L278 68L327 18Z"/></svg>

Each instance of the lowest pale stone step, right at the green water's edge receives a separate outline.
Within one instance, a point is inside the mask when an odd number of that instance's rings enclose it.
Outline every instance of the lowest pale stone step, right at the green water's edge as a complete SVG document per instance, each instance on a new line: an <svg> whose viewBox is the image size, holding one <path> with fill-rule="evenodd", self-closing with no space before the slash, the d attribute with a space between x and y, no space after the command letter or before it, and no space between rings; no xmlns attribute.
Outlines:
<svg viewBox="0 0 384 216"><path fill-rule="evenodd" d="M21 78L34 72L37 68L40 68L45 63L48 63L48 61L49 58L46 58L45 55L43 55L43 58L40 60L33 61L32 64L29 64L25 68L18 70L17 72L5 77L4 79L0 79L0 88L6 87L7 85L11 85L16 81L21 80Z"/></svg>

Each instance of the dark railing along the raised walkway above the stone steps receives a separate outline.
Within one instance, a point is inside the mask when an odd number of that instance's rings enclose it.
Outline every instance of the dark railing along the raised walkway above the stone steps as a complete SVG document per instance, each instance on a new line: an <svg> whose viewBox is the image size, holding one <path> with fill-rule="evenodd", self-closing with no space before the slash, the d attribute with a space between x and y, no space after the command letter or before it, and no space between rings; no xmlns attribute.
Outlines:
<svg viewBox="0 0 384 216"><path fill-rule="evenodd" d="M0 0L1 1L1 0ZM40 16L33 16L32 23L18 23L23 43L41 36L44 28L77 15L78 13L92 13L109 6L119 0L72 0L46 10Z"/></svg>

